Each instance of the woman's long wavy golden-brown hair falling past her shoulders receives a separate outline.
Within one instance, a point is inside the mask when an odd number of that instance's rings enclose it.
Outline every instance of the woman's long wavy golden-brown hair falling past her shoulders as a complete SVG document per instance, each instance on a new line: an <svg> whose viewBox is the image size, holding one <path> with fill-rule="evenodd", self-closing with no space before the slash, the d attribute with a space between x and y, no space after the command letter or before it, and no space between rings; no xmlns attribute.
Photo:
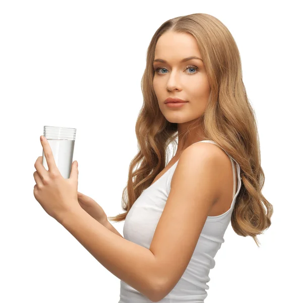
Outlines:
<svg viewBox="0 0 290 303"><path fill-rule="evenodd" d="M224 24L208 14L170 19L150 41L141 81L143 106L135 127L139 151L130 163L122 196L125 213L107 219L114 222L126 219L142 191L164 169L169 144L173 143L174 149L181 135L178 124L168 122L161 113L153 89L155 46L158 38L168 31L190 33L197 40L211 88L205 112L198 120L205 139L215 141L241 167L242 187L231 215L231 226L238 235L253 237L259 247L256 235L270 227L273 207L261 192L265 176L256 116L242 80L238 46ZM192 128L188 129L183 138L191 131Z"/></svg>

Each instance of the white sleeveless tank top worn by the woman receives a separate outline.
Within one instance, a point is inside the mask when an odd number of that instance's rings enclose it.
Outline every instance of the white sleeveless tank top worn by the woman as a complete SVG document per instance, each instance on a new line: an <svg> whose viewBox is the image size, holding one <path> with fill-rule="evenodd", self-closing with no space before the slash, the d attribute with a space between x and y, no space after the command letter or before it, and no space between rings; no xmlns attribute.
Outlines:
<svg viewBox="0 0 290 303"><path fill-rule="evenodd" d="M209 142L216 144L212 140ZM198 143L198 142L196 142ZM195 143L194 143L195 144ZM216 144L219 146L218 144ZM219 146L220 147L220 146ZM223 149L224 150L224 149ZM224 150L225 152L225 150ZM225 152L226 153L226 152ZM227 153L226 153L227 154ZM210 281L209 271L214 268L214 257L224 242L223 235L229 225L236 197L241 188L239 164L228 154L233 166L234 192L230 209L219 216L208 216L201 231L191 260L176 286L160 301L162 303L204 303L207 297L206 284ZM234 162L237 166L238 188L236 189L236 176ZM173 164L159 179L146 188L136 199L125 219L124 238L149 249L158 221L164 209L170 191L172 175L178 161ZM142 293L121 280L119 303L149 303L152 302Z"/></svg>

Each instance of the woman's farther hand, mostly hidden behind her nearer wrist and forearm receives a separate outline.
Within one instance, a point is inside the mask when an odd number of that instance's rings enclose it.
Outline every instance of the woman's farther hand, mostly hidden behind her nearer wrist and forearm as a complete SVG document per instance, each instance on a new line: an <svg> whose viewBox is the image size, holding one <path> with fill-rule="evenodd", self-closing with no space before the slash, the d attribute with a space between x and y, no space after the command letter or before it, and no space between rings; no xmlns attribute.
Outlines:
<svg viewBox="0 0 290 303"><path fill-rule="evenodd" d="M104 210L89 196L78 191L78 201L81 208L102 225L107 221Z"/></svg>

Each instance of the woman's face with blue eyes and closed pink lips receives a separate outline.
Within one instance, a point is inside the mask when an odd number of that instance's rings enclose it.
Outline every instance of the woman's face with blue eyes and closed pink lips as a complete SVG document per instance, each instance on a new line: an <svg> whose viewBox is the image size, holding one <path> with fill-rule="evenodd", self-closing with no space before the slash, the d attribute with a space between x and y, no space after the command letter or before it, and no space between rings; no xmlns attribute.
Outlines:
<svg viewBox="0 0 290 303"><path fill-rule="evenodd" d="M171 123L186 123L199 118L207 105L210 86L199 47L194 36L188 33L166 32L157 41L153 62L153 88L159 108ZM157 70L158 69L158 70ZM188 101L182 107L168 107L164 102L168 97Z"/></svg>

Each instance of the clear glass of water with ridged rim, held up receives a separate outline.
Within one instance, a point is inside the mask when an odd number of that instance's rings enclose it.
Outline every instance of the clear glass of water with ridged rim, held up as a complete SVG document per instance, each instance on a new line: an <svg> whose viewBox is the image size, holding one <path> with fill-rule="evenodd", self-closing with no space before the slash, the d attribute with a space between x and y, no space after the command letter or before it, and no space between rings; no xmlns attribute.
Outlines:
<svg viewBox="0 0 290 303"><path fill-rule="evenodd" d="M50 145L55 164L65 179L69 179L71 174L76 132L76 128L68 127L44 126L43 128L43 136ZM48 170L43 150L42 164Z"/></svg>

